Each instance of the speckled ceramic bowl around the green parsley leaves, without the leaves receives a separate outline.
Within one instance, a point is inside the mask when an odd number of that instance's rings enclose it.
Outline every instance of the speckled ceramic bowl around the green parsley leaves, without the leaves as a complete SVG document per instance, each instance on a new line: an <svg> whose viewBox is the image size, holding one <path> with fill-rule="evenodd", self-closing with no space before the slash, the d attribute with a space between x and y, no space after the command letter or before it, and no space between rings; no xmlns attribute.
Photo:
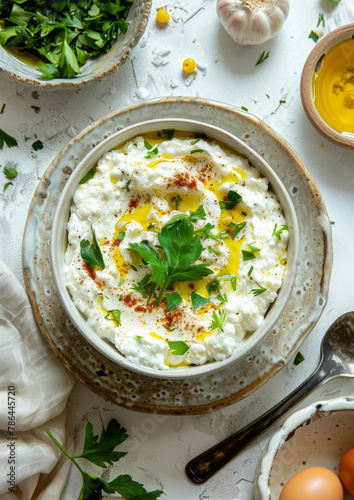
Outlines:
<svg viewBox="0 0 354 500"><path fill-rule="evenodd" d="M151 0L135 0L127 17L129 28L126 34L119 35L117 41L106 54L89 59L81 67L81 74L75 78L55 78L46 80L36 68L15 59L0 46L0 72L8 78L33 85L43 90L81 88L93 81L102 80L116 71L131 54L145 31L151 10Z"/></svg>

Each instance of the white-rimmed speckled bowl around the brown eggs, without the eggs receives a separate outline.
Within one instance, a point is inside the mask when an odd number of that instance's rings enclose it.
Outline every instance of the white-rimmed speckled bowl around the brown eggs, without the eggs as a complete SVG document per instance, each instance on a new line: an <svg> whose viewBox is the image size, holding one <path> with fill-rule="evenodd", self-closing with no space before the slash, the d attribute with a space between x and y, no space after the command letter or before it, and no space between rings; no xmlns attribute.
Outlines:
<svg viewBox="0 0 354 500"><path fill-rule="evenodd" d="M264 450L254 479L255 500L278 500L284 484L307 467L327 467L354 448L354 398L316 401L286 419ZM344 500L353 498L348 492Z"/></svg>

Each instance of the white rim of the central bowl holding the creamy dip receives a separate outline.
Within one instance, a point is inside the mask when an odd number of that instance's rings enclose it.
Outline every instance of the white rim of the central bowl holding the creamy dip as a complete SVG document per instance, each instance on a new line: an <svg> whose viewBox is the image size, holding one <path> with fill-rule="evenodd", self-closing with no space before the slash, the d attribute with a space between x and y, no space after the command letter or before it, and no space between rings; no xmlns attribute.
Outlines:
<svg viewBox="0 0 354 500"><path fill-rule="evenodd" d="M79 182L82 177L90 170L97 161L108 151L124 144L138 135L146 134L149 132L157 132L163 129L176 129L187 132L205 133L211 139L224 143L226 146L232 148L237 153L245 156L252 165L254 165L264 177L267 177L271 189L277 195L287 224L291 227L289 234L289 245L287 251L287 272L285 274L283 284L278 292L277 299L273 302L266 315L264 323L245 341L237 346L235 352L229 358L223 361L214 361L200 366L188 366L179 368L170 368L169 370L157 370L146 366L137 365L129 361L125 356L120 354L118 350L109 343L101 339L87 324L86 320L79 313L75 307L70 294L65 286L65 264L64 252L66 241L66 222L69 216L70 206L72 204L73 195L78 189ZM267 162L247 146L243 141L233 136L229 132L220 129L219 127L208 125L202 122L188 119L157 119L149 120L141 123L131 125L111 135L103 140L100 144L94 147L86 157L80 162L75 169L74 173L68 179L63 192L59 198L58 205L53 219L51 231L51 263L55 283L58 287L60 299L62 304L73 321L79 332L102 354L107 356L115 363L141 373L147 376L172 379L172 378L189 378L216 370L220 370L236 361L238 361L256 345L261 342L262 338L273 328L279 316L282 314L290 293L294 286L296 277L297 260L299 255L299 229L296 212L291 201L291 198L280 181L277 174L267 164Z"/></svg>

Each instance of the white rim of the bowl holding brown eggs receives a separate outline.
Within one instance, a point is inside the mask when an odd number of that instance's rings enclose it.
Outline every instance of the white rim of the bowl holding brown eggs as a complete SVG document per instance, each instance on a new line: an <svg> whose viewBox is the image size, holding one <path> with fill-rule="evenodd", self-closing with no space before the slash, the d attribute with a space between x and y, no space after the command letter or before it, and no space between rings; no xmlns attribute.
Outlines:
<svg viewBox="0 0 354 500"><path fill-rule="evenodd" d="M310 421L316 414L318 414L319 418L325 418L330 413L343 410L352 411L354 419L354 397L341 396L329 400L315 401L309 406L296 411L285 420L281 428L270 438L258 462L254 478L254 488L257 493L255 498L257 500L272 499L269 479L273 464L280 448L287 440L291 439L296 429Z"/></svg>

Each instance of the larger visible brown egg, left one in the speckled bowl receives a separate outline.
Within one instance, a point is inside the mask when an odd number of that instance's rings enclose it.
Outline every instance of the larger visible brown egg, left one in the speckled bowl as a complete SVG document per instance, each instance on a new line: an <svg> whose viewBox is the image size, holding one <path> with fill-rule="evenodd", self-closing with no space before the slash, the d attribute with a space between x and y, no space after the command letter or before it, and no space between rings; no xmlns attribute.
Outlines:
<svg viewBox="0 0 354 500"><path fill-rule="evenodd" d="M284 486L279 500L343 500L339 478L325 467L309 467L293 476Z"/></svg>

